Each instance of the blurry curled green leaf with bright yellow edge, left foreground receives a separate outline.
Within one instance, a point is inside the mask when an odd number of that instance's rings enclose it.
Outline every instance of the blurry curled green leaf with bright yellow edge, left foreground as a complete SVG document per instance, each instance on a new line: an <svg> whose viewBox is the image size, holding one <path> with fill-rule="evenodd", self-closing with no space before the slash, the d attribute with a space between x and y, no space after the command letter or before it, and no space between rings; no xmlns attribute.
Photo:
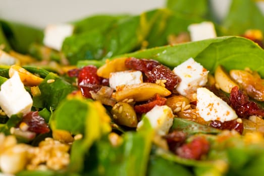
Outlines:
<svg viewBox="0 0 264 176"><path fill-rule="evenodd" d="M83 139L74 141L71 149L70 172L82 172L84 159L92 144L111 131L110 117L99 102L73 97L62 101L51 122L52 130L67 130L82 134Z"/></svg>

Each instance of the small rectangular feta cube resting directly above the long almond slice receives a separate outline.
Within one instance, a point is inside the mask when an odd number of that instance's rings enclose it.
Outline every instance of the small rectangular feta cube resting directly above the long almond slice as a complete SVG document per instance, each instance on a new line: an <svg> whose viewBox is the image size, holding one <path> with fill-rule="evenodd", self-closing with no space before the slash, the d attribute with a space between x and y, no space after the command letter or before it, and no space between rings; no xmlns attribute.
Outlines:
<svg viewBox="0 0 264 176"><path fill-rule="evenodd" d="M132 85L142 83L141 71L127 70L110 73L109 84L110 87L116 90L119 85Z"/></svg>

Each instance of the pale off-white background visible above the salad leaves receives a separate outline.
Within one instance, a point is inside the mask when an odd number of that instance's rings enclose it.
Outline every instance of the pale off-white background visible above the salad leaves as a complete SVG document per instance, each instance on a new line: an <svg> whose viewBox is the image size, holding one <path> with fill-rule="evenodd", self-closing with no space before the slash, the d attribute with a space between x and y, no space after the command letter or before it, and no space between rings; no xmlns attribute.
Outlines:
<svg viewBox="0 0 264 176"><path fill-rule="evenodd" d="M210 1L218 17L224 18L230 0ZM140 14L163 8L165 4L166 0L0 0L0 19L45 27L50 23L70 22L94 14ZM264 2L258 5L264 13Z"/></svg>

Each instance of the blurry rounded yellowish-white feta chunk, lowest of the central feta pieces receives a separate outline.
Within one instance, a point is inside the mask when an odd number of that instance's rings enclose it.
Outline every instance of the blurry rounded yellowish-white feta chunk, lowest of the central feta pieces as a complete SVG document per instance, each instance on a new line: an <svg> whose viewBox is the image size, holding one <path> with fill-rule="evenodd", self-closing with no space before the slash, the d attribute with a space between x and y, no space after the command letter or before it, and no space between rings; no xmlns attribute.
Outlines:
<svg viewBox="0 0 264 176"><path fill-rule="evenodd" d="M146 113L144 118L149 120L150 125L157 134L166 135L173 125L174 115L172 109L167 105L156 105L152 110ZM140 129L142 125L143 121L141 120L137 125L137 129Z"/></svg>

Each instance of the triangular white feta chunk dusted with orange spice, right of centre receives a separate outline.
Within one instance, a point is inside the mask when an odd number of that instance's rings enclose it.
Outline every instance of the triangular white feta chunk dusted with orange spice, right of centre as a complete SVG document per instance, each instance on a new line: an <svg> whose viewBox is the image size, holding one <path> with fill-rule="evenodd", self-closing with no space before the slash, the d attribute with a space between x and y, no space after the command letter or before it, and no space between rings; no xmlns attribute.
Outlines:
<svg viewBox="0 0 264 176"><path fill-rule="evenodd" d="M204 87L197 89L196 109L205 121L225 122L237 118L236 112L225 101Z"/></svg>

